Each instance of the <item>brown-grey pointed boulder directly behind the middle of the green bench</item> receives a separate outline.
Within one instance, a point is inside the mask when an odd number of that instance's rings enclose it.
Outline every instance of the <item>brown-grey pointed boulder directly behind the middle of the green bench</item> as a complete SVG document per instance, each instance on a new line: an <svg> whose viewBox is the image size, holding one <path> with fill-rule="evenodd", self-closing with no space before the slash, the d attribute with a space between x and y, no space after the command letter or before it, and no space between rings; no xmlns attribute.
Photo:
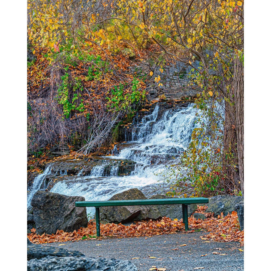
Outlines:
<svg viewBox="0 0 271 271"><path fill-rule="evenodd" d="M147 199L137 188L132 188L118 193L110 198L110 201ZM100 208L100 222L107 223L128 223L132 221L159 219L161 215L155 206L107 206Z"/></svg>

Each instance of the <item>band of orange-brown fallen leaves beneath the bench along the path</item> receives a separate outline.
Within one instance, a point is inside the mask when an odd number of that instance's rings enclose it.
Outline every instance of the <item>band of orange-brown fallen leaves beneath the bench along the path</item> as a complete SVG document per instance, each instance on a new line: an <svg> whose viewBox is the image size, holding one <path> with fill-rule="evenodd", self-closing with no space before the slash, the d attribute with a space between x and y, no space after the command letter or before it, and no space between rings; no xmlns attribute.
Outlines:
<svg viewBox="0 0 271 271"><path fill-rule="evenodd" d="M202 212L198 209L198 212ZM227 216L218 216L218 218L210 217L210 213L204 213L207 217L204 220L195 219L194 216L188 218L189 231L195 232L198 229L205 231L206 235L202 235L201 239L207 241L230 242L238 241L244 245L244 230L240 230L238 216L236 211L233 211ZM177 221L171 220L168 217L163 217L160 220L139 221L130 226L122 225L121 223L101 224L100 238L112 237L139 237L145 238L160 234L173 234L176 232L185 232L185 225L182 219ZM44 244L52 242L78 241L82 239L96 239L96 223L90 220L86 228L80 228L73 232L64 232L58 230L56 234L36 234L36 229L31 230L32 233L27 234L27 237L32 243Z"/></svg>

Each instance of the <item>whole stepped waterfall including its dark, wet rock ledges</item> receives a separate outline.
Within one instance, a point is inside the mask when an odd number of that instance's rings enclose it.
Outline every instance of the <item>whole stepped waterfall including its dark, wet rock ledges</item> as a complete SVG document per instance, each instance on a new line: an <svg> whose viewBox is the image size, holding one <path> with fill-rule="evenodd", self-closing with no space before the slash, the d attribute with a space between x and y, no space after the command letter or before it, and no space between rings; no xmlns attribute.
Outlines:
<svg viewBox="0 0 271 271"><path fill-rule="evenodd" d="M195 128L193 103L157 103L140 111L120 131L122 143L111 156L63 160L48 164L42 176L28 188L27 207L40 189L88 200L108 200L113 195L138 188L143 193L157 185L164 164L174 161L187 147ZM120 142L120 140L119 140ZM87 213L94 215L95 208Z"/></svg>

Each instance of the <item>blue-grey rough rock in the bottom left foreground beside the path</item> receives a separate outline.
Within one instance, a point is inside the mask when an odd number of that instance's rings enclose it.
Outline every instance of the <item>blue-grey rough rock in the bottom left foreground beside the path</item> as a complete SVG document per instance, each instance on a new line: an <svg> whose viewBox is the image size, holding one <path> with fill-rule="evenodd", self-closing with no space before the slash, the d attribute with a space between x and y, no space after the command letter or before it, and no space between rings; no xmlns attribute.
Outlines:
<svg viewBox="0 0 271 271"><path fill-rule="evenodd" d="M32 244L27 238L28 271L137 271L128 260L86 257L79 251Z"/></svg>

